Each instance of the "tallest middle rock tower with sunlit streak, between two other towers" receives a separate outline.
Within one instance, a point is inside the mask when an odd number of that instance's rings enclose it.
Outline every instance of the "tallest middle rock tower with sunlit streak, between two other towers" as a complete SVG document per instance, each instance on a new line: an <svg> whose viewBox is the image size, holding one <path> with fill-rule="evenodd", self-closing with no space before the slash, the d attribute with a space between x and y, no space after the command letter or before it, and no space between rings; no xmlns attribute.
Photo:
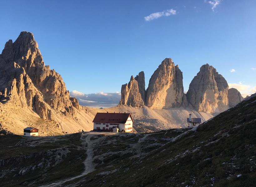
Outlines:
<svg viewBox="0 0 256 187"><path fill-rule="evenodd" d="M180 107L184 95L183 76L178 65L166 58L150 78L146 104L152 109Z"/></svg>

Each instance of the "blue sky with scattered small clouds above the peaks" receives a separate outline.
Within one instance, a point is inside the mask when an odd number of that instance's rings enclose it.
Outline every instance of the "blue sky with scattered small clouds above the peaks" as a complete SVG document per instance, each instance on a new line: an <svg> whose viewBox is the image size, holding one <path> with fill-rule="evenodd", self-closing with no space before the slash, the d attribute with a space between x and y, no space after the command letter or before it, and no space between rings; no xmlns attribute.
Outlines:
<svg viewBox="0 0 256 187"><path fill-rule="evenodd" d="M206 63L243 96L256 91L255 0L0 0L0 5L0 51L21 31L32 32L45 64L81 100L119 100L121 85L140 71L147 87L165 58L179 65L184 91Z"/></svg>

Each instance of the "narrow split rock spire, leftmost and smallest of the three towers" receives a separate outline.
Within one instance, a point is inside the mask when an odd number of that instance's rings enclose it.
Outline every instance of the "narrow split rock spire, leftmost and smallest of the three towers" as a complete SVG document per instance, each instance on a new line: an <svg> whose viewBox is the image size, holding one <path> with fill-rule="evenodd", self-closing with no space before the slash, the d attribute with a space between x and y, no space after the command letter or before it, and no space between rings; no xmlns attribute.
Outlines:
<svg viewBox="0 0 256 187"><path fill-rule="evenodd" d="M143 74L140 72L140 74L137 75L135 78L140 82L138 82L136 79L134 79L133 76L131 76L130 82L128 84L122 85L120 104L131 106L131 107L143 107L144 99L142 98L142 94L145 95L144 72ZM143 83L143 80L144 80L144 83ZM143 84L144 84L144 92L143 92Z"/></svg>

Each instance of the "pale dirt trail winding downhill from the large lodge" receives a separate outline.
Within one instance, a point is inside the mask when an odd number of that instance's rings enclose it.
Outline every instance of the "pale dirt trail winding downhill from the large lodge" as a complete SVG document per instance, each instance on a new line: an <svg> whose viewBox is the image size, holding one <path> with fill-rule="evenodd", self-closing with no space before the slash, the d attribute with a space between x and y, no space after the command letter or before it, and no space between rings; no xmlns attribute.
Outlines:
<svg viewBox="0 0 256 187"><path fill-rule="evenodd" d="M93 163L93 144L96 143L96 141L100 141L102 138L104 137L101 137L101 138L98 138L96 140L92 140L90 141L91 137L92 136L95 136L95 135L98 135L98 134L104 134L104 133L88 133L88 134L85 134L85 135L81 135L81 140L83 141L82 144L86 145L87 144L87 148L86 148L86 159L85 161L83 162L84 165L85 165L85 170L80 174L80 175L77 175L75 177L70 177L70 178L67 178L67 179L63 179L63 180L60 180L60 181L57 181L57 182L54 182L54 183L51 183L51 184L47 184L47 185L42 185L40 187L55 187L55 186L60 186L62 184L64 184L65 182L67 181L71 181L71 180L74 180L74 179L77 179L79 177L82 177L84 175L87 175L88 173L91 173L92 171L94 171L94 163ZM86 136L86 138L84 139L83 137Z"/></svg>

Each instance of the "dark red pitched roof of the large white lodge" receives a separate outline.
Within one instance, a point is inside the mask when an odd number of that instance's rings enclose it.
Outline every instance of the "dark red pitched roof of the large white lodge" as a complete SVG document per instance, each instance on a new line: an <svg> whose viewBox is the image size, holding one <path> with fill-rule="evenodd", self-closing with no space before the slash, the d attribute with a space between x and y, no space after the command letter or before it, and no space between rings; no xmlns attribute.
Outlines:
<svg viewBox="0 0 256 187"><path fill-rule="evenodd" d="M128 117L133 119L130 113L96 113L92 122L96 123L126 123Z"/></svg>

